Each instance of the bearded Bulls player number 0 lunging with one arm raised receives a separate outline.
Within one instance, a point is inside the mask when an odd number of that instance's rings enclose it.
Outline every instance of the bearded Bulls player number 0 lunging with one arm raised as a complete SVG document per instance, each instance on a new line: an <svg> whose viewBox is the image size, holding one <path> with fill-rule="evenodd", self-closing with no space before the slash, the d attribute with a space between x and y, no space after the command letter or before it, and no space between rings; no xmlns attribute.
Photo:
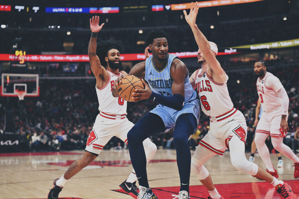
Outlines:
<svg viewBox="0 0 299 199"><path fill-rule="evenodd" d="M115 80L120 75L127 75L124 71L119 72L121 66L119 50L123 46L119 41L108 40L100 42L97 48L97 33L104 25L99 25L99 20L100 18L97 16L90 19L92 33L88 46L88 55L91 70L96 78L95 89L100 113L97 115L89 134L83 157L74 161L62 177L54 181L48 199L58 198L58 194L66 181L94 161L113 136L117 136L127 144L127 133L134 126L126 118L127 102L120 97L114 98L112 96ZM149 138L143 141L143 145L148 163L155 155L157 147ZM137 177L133 169L128 179L120 184L120 187L134 198L137 198L139 193L139 189L135 185L136 180Z"/></svg>

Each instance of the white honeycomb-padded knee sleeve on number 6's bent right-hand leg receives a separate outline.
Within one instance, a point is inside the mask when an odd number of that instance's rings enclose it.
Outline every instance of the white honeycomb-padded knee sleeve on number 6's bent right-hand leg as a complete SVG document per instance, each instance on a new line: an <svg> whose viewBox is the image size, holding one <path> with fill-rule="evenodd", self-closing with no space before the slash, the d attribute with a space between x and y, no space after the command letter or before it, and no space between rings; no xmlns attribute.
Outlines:
<svg viewBox="0 0 299 199"><path fill-rule="evenodd" d="M257 165L249 162L243 152L236 152L231 155L231 164L239 171L250 175L257 174Z"/></svg>

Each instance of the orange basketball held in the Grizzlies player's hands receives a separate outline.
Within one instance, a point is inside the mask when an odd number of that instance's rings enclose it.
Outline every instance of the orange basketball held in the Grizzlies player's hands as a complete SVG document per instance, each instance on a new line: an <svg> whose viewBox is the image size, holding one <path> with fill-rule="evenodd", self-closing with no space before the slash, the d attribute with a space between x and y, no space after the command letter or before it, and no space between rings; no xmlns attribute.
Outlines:
<svg viewBox="0 0 299 199"><path fill-rule="evenodd" d="M133 101L131 97L135 89L144 89L144 85L138 77L128 75L126 78L121 79L121 84L118 85L118 94L126 101Z"/></svg>

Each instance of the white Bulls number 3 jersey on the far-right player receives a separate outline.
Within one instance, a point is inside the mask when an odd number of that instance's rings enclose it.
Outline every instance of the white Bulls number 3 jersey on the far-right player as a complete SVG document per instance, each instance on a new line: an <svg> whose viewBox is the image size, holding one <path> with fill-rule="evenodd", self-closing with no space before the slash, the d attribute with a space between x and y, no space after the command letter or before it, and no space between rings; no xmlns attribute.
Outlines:
<svg viewBox="0 0 299 199"><path fill-rule="evenodd" d="M270 72L263 79L257 78L257 93L264 111L271 112L281 107L282 100L277 91L282 88L279 79Z"/></svg>

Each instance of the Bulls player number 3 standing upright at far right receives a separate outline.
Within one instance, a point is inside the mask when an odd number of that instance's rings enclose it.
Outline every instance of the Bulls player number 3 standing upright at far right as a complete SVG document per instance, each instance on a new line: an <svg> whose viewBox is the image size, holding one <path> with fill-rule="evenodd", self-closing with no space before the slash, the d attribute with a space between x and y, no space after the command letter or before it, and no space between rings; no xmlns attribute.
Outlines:
<svg viewBox="0 0 299 199"><path fill-rule="evenodd" d="M283 144L288 127L289 97L283 85L277 77L266 71L264 61L254 64L254 72L257 78L257 93L263 112L255 131L255 144L257 150L266 165L267 171L278 176L270 160L269 150L265 144L266 138L271 136L271 143L277 151L294 162L294 178L299 178L299 158L289 146Z"/></svg>

